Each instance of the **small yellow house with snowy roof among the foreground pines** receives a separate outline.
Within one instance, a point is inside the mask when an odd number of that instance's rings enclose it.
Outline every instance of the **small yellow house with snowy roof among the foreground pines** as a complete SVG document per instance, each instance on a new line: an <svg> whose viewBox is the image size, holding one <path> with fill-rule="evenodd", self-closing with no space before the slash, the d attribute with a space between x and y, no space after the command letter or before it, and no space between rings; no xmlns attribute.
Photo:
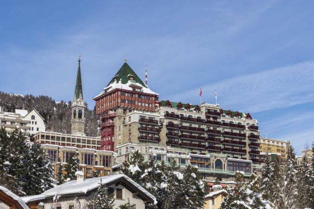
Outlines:
<svg viewBox="0 0 314 209"><path fill-rule="evenodd" d="M213 191L209 192L208 195L205 196L205 209L219 209L221 203L227 197L228 192L225 189L222 189L220 185L214 185Z"/></svg>

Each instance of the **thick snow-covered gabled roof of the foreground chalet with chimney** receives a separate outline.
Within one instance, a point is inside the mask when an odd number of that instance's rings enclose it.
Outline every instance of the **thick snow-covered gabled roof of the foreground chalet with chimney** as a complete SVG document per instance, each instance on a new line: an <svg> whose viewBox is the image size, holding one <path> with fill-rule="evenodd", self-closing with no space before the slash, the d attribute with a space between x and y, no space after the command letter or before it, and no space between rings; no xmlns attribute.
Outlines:
<svg viewBox="0 0 314 209"><path fill-rule="evenodd" d="M62 185L55 186L44 193L40 194L41 196L34 195L34 196L26 196L23 197L22 199L27 203L27 202L32 202L33 197L36 200L40 200L39 198L41 197L42 199L47 199L47 198L52 198L55 195L71 195L71 194L86 194L87 192L90 192L96 188L99 187L99 184L102 180L102 184L105 184L106 186L114 184L116 181L119 180L126 180L128 183L136 187L139 191L142 192L144 195L149 197L150 201L155 202L156 197L149 193L146 189L144 189L142 186L138 185L136 182L131 180L128 176L124 174L114 174L110 176L104 176L104 177L98 177L98 178L91 178L91 179L86 179L84 182L77 184L76 180L66 182Z"/></svg>

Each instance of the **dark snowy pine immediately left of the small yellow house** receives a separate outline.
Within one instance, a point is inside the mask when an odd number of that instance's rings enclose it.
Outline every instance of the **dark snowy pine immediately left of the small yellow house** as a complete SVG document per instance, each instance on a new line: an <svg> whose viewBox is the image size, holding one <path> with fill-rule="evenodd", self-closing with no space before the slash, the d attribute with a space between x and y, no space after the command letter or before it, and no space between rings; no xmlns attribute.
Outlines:
<svg viewBox="0 0 314 209"><path fill-rule="evenodd" d="M180 203L178 208L195 209L204 206L205 185L197 168L187 165L183 174L179 174L181 184Z"/></svg>

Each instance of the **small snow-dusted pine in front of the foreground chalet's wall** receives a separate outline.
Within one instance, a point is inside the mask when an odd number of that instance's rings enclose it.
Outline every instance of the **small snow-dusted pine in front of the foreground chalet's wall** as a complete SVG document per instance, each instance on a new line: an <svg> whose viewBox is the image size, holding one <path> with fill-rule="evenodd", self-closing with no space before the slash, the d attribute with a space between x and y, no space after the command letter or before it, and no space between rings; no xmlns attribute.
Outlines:
<svg viewBox="0 0 314 209"><path fill-rule="evenodd" d="M91 209L113 209L113 196L114 193L109 194L107 187L102 184L101 180L98 187L98 193L96 194L95 199L90 201L89 206Z"/></svg>

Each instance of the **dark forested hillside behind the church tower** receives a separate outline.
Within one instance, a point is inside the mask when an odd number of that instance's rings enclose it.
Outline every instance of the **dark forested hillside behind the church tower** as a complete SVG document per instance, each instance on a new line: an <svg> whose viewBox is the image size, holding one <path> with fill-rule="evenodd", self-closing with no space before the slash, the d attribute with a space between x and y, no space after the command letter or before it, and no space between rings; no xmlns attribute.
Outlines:
<svg viewBox="0 0 314 209"><path fill-rule="evenodd" d="M31 94L21 95L0 92L2 111L14 112L15 109L31 111L35 108L45 119L48 131L71 134L71 104L64 101L55 102L52 97ZM87 104L86 104L87 106ZM85 133L87 136L97 136L97 120L94 109L85 110Z"/></svg>

